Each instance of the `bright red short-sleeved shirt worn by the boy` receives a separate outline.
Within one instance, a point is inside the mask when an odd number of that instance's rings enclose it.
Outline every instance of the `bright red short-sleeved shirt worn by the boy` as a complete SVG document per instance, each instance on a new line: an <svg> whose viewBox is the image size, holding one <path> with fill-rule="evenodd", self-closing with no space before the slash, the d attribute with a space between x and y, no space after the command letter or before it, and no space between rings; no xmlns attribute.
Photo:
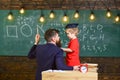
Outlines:
<svg viewBox="0 0 120 80"><path fill-rule="evenodd" d="M70 48L72 52L66 53L66 64L68 66L80 65L78 38L70 40L68 48Z"/></svg>

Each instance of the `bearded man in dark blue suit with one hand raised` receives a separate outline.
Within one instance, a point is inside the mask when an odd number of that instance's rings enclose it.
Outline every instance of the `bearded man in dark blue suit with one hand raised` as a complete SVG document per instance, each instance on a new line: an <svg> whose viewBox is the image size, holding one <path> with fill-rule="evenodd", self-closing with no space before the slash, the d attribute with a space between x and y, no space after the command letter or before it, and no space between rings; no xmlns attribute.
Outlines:
<svg viewBox="0 0 120 80"><path fill-rule="evenodd" d="M64 64L63 50L57 44L60 42L59 31L48 29L44 35L46 44L38 45L40 35L35 37L35 45L31 48L28 57L36 58L37 72L36 80L41 80L41 72L49 69L57 70L79 70L79 66L66 66Z"/></svg>

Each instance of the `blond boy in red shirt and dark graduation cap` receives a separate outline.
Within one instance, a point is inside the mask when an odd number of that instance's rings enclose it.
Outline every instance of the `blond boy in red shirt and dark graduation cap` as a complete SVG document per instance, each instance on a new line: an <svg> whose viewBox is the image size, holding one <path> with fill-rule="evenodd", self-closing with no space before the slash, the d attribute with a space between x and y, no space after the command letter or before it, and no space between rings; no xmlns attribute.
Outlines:
<svg viewBox="0 0 120 80"><path fill-rule="evenodd" d="M79 33L78 24L68 24L65 27L65 32L70 40L68 43L68 48L61 48L66 52L66 64L68 66L80 65L79 40L77 38Z"/></svg>

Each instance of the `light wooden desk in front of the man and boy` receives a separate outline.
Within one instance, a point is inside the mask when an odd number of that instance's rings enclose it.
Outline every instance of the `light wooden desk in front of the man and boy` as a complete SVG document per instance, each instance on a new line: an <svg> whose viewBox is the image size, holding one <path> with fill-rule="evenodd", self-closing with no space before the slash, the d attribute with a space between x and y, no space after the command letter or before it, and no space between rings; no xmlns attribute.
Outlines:
<svg viewBox="0 0 120 80"><path fill-rule="evenodd" d="M43 71L42 80L98 80L98 73L97 68L90 65L87 73L62 70Z"/></svg>

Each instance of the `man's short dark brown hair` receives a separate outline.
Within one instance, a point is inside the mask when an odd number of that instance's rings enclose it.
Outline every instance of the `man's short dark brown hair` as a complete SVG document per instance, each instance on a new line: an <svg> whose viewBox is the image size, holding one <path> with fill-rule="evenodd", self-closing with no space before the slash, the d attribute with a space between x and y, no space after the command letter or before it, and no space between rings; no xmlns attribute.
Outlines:
<svg viewBox="0 0 120 80"><path fill-rule="evenodd" d="M45 32L45 35L44 35L44 38L47 42L50 42L51 41L51 38L53 36L55 36L56 34L59 34L59 31L56 30L56 29L48 29L46 32Z"/></svg>

